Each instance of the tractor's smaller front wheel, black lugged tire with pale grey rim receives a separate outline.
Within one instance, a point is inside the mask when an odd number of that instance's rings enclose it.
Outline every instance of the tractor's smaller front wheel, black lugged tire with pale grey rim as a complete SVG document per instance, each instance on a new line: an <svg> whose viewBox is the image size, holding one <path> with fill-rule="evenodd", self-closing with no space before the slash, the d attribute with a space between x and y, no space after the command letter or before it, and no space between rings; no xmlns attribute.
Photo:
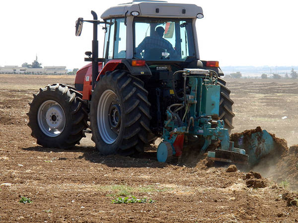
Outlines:
<svg viewBox="0 0 298 223"><path fill-rule="evenodd" d="M74 87L53 84L40 88L27 113L31 135L44 147L68 149L85 137L87 105Z"/></svg>

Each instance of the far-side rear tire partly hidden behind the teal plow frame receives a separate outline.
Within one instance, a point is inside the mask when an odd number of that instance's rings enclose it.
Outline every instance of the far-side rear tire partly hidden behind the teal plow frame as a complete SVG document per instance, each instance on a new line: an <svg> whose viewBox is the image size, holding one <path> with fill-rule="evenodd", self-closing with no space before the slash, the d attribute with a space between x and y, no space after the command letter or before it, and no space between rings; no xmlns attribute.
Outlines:
<svg viewBox="0 0 298 223"><path fill-rule="evenodd" d="M224 120L224 128L228 129L228 133L234 128L232 125L233 117L235 114L232 110L234 102L230 99L230 90L225 86L226 82L222 78L218 78L218 83L221 86L221 99L220 99L220 119Z"/></svg>

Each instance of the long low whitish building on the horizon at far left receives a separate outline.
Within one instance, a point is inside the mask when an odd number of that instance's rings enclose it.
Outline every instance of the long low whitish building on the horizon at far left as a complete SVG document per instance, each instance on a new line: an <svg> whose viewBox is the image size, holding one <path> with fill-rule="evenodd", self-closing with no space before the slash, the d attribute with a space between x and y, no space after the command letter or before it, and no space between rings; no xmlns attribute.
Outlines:
<svg viewBox="0 0 298 223"><path fill-rule="evenodd" d="M67 74L66 66L44 66L44 68L31 68L20 66L0 66L0 73L23 74Z"/></svg>

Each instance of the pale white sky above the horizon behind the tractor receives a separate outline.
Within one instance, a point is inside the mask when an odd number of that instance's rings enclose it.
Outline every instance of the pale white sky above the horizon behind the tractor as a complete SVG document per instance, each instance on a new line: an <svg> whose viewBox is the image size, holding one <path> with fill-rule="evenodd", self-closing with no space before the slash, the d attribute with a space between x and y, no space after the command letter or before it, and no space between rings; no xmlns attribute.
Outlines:
<svg viewBox="0 0 298 223"><path fill-rule="evenodd" d="M0 66L32 63L80 68L91 51L92 24L76 37L75 20L98 17L130 0L0 0ZM196 23L202 60L220 66L298 65L298 1L169 0L195 3L204 18ZM99 29L99 56L104 32Z"/></svg>

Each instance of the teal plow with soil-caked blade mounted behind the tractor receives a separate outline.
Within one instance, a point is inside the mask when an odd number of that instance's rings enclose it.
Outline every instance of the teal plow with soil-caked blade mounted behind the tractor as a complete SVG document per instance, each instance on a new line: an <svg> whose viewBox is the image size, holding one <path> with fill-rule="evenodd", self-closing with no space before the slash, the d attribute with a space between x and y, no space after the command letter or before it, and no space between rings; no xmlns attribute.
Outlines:
<svg viewBox="0 0 298 223"><path fill-rule="evenodd" d="M214 142L220 147L208 152L208 158L226 163L242 163L253 166L260 159L273 153L274 138L257 127L241 134L228 134L224 120L219 117L221 86L213 70L184 69L176 71L184 78L184 97L181 103L169 106L164 121L163 141L157 148L157 160L169 162L180 157L185 142L200 142L196 148L204 154ZM174 90L175 96L176 92ZM235 144L235 145L234 145Z"/></svg>

